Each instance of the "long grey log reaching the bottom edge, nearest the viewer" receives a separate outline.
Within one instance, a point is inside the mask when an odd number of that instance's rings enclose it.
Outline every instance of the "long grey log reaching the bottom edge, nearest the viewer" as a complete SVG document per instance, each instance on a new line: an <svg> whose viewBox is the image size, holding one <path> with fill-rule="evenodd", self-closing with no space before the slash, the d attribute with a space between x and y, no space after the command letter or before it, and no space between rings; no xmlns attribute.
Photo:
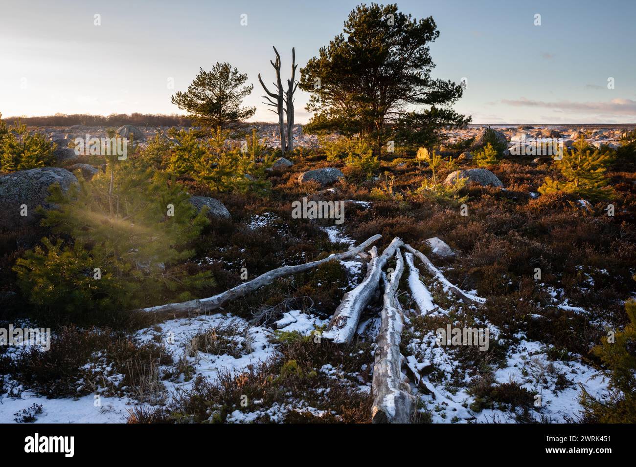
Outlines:
<svg viewBox="0 0 636 467"><path fill-rule="evenodd" d="M373 365L373 423L410 423L414 407L410 386L402 373L404 357L399 344L404 327L404 318L397 301L397 286L404 271L404 262L399 249L395 252L395 271L387 279L384 277L384 308L382 325L378 332L375 364Z"/></svg>

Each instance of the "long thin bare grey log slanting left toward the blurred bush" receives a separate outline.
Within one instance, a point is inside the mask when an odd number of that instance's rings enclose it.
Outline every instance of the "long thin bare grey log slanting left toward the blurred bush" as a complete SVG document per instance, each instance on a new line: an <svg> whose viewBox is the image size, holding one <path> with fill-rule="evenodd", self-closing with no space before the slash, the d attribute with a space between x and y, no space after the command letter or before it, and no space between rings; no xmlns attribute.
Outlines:
<svg viewBox="0 0 636 467"><path fill-rule="evenodd" d="M273 269L272 271L268 271L267 273L261 274L255 279L252 279L249 282L244 282L237 287L230 288L230 290L226 290L222 294L214 295L213 297L208 297L206 299L200 300L190 300L187 302L181 303L170 303L166 305L160 306L151 306L149 308L142 308L137 311L151 311L151 312L170 312L170 313L181 313L188 311L210 311L212 309L219 308L225 302L228 302L237 297L241 297L242 295L247 294L248 292L253 292L259 287L263 287L263 285L268 285L274 279L283 276L289 276L290 274L302 273L303 271L308 271L309 269L313 269L314 267L320 266L321 264L336 260L340 261L342 259L347 259L350 257L356 256L359 252L363 251L374 241L382 238L382 235L376 234L364 241L357 247L351 248L347 252L342 252L338 254L329 255L329 257L325 259L321 259L318 261L307 262L305 264L298 264L298 266L283 266L278 269Z"/></svg>

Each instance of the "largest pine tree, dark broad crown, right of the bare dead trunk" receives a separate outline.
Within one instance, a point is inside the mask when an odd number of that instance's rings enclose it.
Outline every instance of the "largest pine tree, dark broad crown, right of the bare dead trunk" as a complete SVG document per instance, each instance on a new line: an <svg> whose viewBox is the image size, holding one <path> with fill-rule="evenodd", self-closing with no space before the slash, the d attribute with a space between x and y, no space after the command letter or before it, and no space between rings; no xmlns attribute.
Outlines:
<svg viewBox="0 0 636 467"><path fill-rule="evenodd" d="M431 17L417 20L395 4L357 6L343 33L301 70L315 112L307 130L358 134L379 151L396 136L431 146L443 126L467 123L449 107L462 87L431 78L429 44L438 36Z"/></svg>

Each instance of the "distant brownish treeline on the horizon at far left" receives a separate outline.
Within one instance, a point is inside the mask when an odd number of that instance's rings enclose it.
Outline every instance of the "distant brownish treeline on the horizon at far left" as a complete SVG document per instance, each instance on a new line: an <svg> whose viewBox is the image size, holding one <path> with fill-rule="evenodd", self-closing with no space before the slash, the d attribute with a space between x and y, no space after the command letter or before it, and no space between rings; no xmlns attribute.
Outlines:
<svg viewBox="0 0 636 467"><path fill-rule="evenodd" d="M182 115L153 115L153 114L111 114L86 115L86 114L55 114L41 117L8 117L4 121L13 123L16 119L29 126L121 126L121 125L153 125L153 126L190 126L191 119Z"/></svg>

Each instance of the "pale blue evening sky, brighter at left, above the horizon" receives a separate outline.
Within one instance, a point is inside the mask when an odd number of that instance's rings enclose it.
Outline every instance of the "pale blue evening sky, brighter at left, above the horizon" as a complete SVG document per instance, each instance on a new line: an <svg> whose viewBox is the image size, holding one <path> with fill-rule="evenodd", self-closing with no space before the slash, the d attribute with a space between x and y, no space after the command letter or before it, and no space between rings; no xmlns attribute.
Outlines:
<svg viewBox="0 0 636 467"><path fill-rule="evenodd" d="M245 99L257 108L252 120L274 121L258 83L259 72L266 84L274 79L272 45L287 79L291 48L302 67L342 32L358 3L0 0L0 112L183 114L170 96L186 90L199 67L230 62L254 85ZM466 79L454 108L473 123L636 122L636 1L397 5L435 20L432 76ZM307 100L296 91L296 123L310 117Z"/></svg>

